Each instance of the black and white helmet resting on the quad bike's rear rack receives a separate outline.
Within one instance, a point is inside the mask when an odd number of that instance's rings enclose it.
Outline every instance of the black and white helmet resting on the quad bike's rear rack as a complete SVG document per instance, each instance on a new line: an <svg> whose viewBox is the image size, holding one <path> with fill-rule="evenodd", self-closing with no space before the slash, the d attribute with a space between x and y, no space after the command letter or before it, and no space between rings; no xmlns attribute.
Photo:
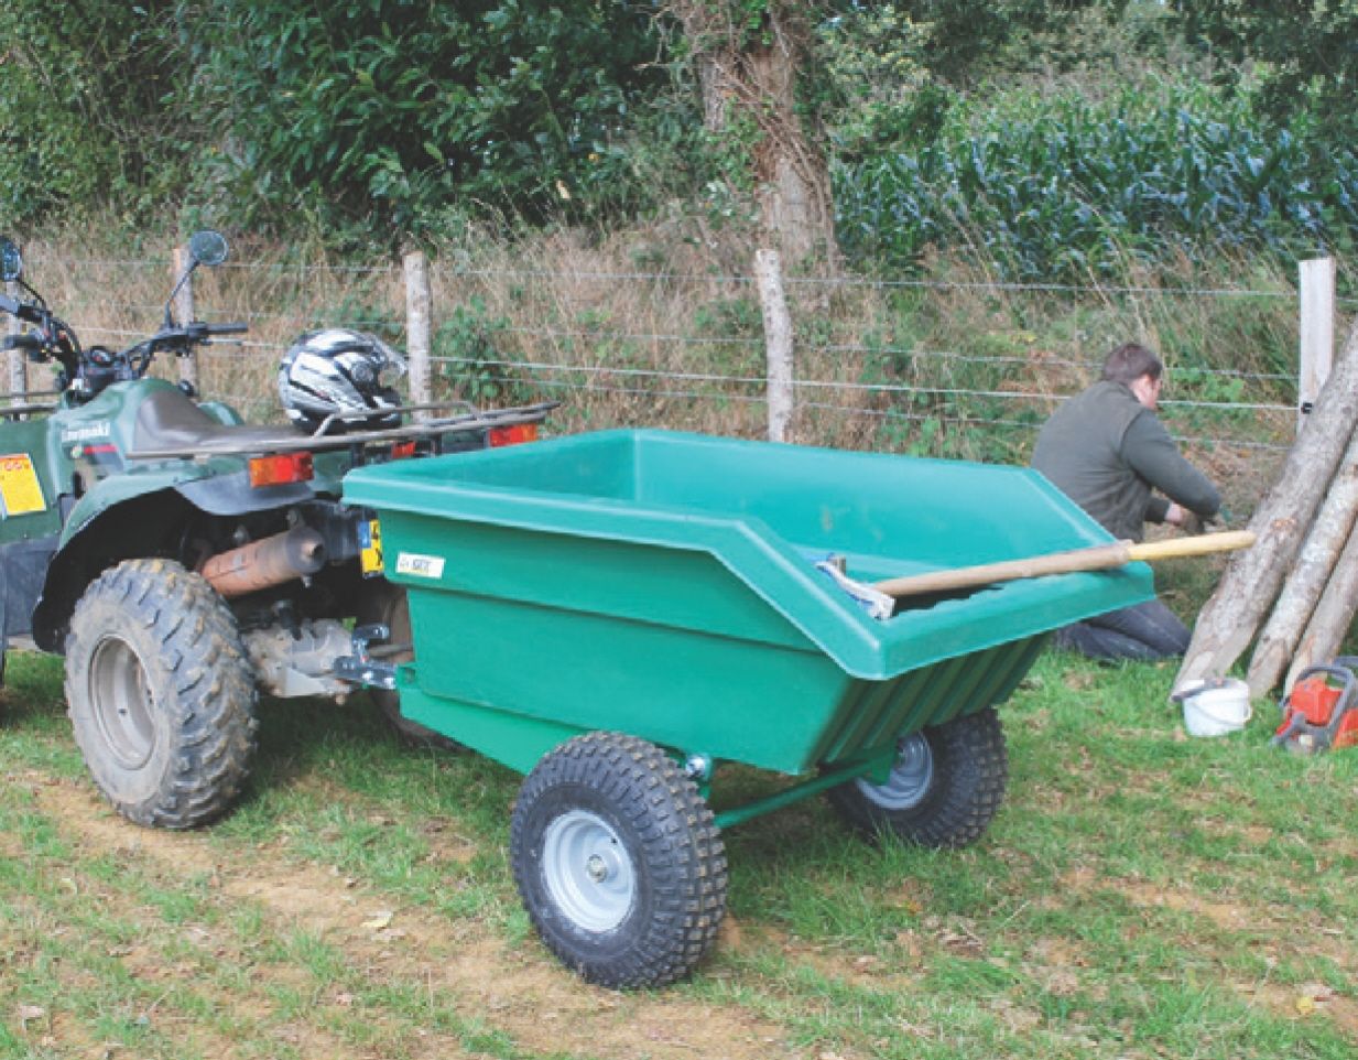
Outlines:
<svg viewBox="0 0 1358 1060"><path fill-rule="evenodd" d="M331 434L399 427L401 395L391 383L405 371L405 357L376 336L325 328L307 332L282 355L278 400L288 419L308 434L335 413L367 414L335 419L326 428Z"/></svg>

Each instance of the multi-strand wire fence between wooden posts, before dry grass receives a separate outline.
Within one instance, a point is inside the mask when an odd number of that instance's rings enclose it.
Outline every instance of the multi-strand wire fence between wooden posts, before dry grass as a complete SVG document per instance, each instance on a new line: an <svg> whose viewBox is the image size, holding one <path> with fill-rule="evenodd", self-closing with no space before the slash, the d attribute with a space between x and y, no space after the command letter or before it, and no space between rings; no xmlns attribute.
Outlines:
<svg viewBox="0 0 1358 1060"><path fill-rule="evenodd" d="M168 260L30 254L86 345L159 325ZM399 265L228 264L200 270L197 315L251 333L200 355L205 397L277 420L274 374L306 330L344 326L397 345ZM1051 410L1139 338L1165 356L1161 414L1207 450L1282 453L1296 431L1298 295L1267 287L1076 287L790 277L790 436L926 455L1023 459ZM430 268L435 400L562 401L555 429L648 424L760 436L769 363L755 277L729 270ZM128 296L120 300L120 295ZM948 314L955 313L956 319ZM162 364L172 375L174 366ZM50 389L41 371L30 390ZM15 394L11 394L15 397Z"/></svg>

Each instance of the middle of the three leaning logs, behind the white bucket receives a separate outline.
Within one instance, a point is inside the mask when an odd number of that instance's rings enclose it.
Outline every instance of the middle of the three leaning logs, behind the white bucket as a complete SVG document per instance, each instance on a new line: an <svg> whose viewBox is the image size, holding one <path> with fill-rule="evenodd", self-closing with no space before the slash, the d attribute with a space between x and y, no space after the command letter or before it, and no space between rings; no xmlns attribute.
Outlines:
<svg viewBox="0 0 1358 1060"><path fill-rule="evenodd" d="M1249 660L1249 694L1263 696L1272 690L1287 670L1293 651L1301 640L1306 621L1316 609L1316 601L1335 568L1335 561L1348 541L1358 515L1358 435L1348 443L1339 472L1329 484L1306 542L1301 546L1297 564L1287 575L1274 612L1259 635L1253 658Z"/></svg>

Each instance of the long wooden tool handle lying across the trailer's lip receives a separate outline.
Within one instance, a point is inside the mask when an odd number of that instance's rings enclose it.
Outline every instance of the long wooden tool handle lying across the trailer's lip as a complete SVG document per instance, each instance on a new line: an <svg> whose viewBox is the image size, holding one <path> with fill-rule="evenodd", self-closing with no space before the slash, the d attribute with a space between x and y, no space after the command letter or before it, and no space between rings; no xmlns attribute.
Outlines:
<svg viewBox="0 0 1358 1060"><path fill-rule="evenodd" d="M1165 560L1177 556L1206 556L1213 552L1232 552L1249 548L1255 535L1248 530L1224 534L1200 534L1198 537L1168 538L1150 544L1115 541L1111 545L1093 545L1070 552L1052 552L1046 556L1027 556L1021 560L986 563L979 567L957 567L951 571L932 571L907 578L888 578L876 582L873 588L888 597L918 597L925 593L942 593L955 588L974 588L995 582L1014 582L1020 578L1040 578L1048 573L1074 573L1077 571L1105 571L1137 560Z"/></svg>

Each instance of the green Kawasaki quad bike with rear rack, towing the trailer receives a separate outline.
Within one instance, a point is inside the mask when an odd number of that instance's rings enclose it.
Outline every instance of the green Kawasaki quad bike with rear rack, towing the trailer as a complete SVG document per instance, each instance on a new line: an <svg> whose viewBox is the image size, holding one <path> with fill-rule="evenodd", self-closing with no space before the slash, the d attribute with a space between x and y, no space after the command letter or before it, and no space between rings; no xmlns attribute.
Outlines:
<svg viewBox="0 0 1358 1060"><path fill-rule="evenodd" d="M210 231L189 249L189 273L227 255ZM177 323L171 292L149 338L86 348L22 265L0 239L0 277L20 288L0 294L0 315L24 326L4 347L60 370L53 402L0 408L0 665L24 635L65 656L76 742L117 810L162 828L227 810L255 747L261 690L342 699L378 685L388 719L421 735L380 688L391 660L410 658L405 595L382 576L372 512L340 503L341 478L527 440L554 405L384 401L376 413L247 425L147 374L156 355L246 325Z"/></svg>

